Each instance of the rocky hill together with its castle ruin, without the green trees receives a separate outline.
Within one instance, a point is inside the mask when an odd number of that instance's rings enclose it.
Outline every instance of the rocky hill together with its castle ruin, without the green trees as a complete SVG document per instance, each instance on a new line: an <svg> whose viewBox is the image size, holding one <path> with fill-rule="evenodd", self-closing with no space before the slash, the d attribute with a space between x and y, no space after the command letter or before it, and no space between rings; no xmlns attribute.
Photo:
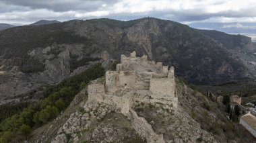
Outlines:
<svg viewBox="0 0 256 143"><path fill-rule="evenodd" d="M29 142L253 142L232 128L211 101L175 80L172 66L133 52Z"/></svg>

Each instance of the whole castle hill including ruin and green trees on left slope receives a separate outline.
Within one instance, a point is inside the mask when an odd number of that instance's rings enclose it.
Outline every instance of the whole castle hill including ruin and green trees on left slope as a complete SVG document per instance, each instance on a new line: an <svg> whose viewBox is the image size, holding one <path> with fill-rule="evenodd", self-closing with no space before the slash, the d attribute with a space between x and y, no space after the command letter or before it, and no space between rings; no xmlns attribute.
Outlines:
<svg viewBox="0 0 256 143"><path fill-rule="evenodd" d="M135 52L116 69L104 64L42 89L40 101L1 122L0 142L255 142L173 67Z"/></svg>

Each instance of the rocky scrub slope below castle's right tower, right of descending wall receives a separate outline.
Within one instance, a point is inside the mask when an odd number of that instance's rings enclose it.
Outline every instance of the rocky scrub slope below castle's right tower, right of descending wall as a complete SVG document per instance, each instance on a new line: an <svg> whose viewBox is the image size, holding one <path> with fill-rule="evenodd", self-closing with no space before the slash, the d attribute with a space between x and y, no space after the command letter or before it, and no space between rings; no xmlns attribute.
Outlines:
<svg viewBox="0 0 256 143"><path fill-rule="evenodd" d="M138 104L135 111L150 122L156 134L164 134L165 142L217 142L182 107L173 108L158 103Z"/></svg>

